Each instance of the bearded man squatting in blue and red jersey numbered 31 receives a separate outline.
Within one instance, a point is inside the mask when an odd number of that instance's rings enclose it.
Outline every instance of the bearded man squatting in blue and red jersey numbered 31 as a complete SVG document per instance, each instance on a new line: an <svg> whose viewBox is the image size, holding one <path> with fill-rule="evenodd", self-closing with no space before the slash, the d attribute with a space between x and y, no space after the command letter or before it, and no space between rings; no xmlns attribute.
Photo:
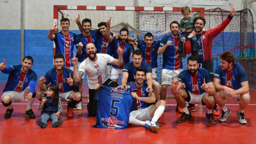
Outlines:
<svg viewBox="0 0 256 144"><path fill-rule="evenodd" d="M177 103L182 107L184 113L177 122L186 122L192 116L186 107L186 102L190 104L201 104L206 106L206 117L210 124L216 124L212 109L214 108L215 88L209 71L198 67L198 58L191 56L187 60L188 70L182 71L175 80L172 81L172 93ZM183 88L185 83L186 88Z"/></svg>

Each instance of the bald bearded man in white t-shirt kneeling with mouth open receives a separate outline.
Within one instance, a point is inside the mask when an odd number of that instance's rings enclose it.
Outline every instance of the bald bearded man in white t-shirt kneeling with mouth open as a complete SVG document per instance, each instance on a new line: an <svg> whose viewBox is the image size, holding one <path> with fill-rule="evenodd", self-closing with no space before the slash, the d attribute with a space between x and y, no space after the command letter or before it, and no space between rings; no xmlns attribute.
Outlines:
<svg viewBox="0 0 256 144"><path fill-rule="evenodd" d="M96 116L97 102L95 101L95 89L96 84L117 87L118 84L111 79L108 79L107 64L123 65L122 49L118 48L118 59L109 56L108 54L96 54L96 47L93 43L89 42L86 45L86 58L79 66L77 70L78 58L73 58L72 63L74 65L74 81L79 81L81 77L86 73L89 86L89 103L87 104L88 113L90 116Z"/></svg>

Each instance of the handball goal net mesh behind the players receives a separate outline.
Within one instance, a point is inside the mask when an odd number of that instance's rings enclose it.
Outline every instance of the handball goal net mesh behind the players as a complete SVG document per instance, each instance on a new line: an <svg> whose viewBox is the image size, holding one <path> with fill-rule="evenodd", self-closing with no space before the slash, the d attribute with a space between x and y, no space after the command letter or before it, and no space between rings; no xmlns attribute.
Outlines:
<svg viewBox="0 0 256 144"><path fill-rule="evenodd" d="M155 40L170 35L170 23L179 22L183 16L179 11L117 11L117 10L59 10L58 30L61 31L60 19L70 19L70 31L79 34L75 19L92 20L92 29L97 29L99 22L111 19L111 31L119 33L123 27L129 30L129 36L143 39L145 33L151 32ZM225 20L229 11L220 8L205 10L205 30L215 28ZM199 12L191 12L191 16L200 16ZM218 57L224 51L232 51L236 57L255 57L253 17L249 9L237 11L227 28L213 41L212 55ZM188 57L189 55L187 55ZM158 78L161 83L162 55L158 56ZM186 69L186 58L182 59ZM83 95L88 95L87 78L84 79ZM120 78L119 81L120 83ZM167 95L171 95L170 89Z"/></svg>

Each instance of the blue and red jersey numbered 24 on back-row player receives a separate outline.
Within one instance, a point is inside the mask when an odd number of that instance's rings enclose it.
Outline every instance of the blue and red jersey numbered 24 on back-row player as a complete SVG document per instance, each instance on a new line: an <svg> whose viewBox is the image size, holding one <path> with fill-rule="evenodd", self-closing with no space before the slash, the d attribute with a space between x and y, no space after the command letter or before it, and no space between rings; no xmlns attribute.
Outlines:
<svg viewBox="0 0 256 144"><path fill-rule="evenodd" d="M96 30L95 34L97 35L96 53L113 56L113 47L115 47L115 41L112 40L112 42L109 42L108 38L104 38L99 30Z"/></svg>

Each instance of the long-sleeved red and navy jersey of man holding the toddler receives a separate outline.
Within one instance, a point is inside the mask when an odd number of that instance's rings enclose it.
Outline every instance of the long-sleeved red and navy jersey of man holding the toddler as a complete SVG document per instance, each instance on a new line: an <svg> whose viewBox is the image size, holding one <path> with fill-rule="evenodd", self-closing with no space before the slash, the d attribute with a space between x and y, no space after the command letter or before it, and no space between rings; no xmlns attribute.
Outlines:
<svg viewBox="0 0 256 144"><path fill-rule="evenodd" d="M212 55L212 41L213 39L221 33L227 25L230 23L232 20L232 17L228 15L228 17L216 28L214 29L209 29L208 31L203 31L202 33L196 35L197 39L197 45L198 45L198 62L203 63L205 61L210 61L211 60L211 55ZM191 40L190 38L186 38L186 43L185 43L185 53L190 54L191 53Z"/></svg>

